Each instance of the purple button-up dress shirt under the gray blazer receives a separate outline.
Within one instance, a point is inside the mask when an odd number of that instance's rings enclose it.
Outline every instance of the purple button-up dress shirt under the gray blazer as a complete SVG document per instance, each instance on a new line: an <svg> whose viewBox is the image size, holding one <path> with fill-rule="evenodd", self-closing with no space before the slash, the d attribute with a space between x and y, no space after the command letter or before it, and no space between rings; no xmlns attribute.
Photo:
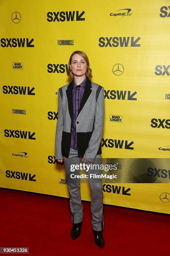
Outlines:
<svg viewBox="0 0 170 256"><path fill-rule="evenodd" d="M70 148L74 148L77 150L77 134L76 134L76 127L75 127L75 120L77 118L78 110L80 108L80 102L82 100L82 95L85 90L87 77L81 82L81 84L77 85L75 83L75 79L73 81L73 89L72 89L72 102L73 102L73 109L72 109L72 125L71 125L71 146Z"/></svg>

